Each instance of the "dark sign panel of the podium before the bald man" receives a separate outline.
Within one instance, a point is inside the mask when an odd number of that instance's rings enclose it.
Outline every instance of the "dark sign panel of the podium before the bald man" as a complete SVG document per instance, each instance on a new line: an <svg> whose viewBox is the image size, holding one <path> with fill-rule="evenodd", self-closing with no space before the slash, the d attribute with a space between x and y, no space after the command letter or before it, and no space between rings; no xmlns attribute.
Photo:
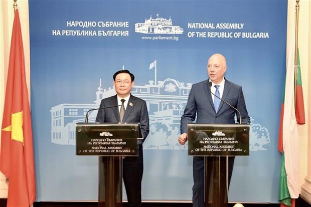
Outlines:
<svg viewBox="0 0 311 207"><path fill-rule="evenodd" d="M188 155L248 156L248 124L188 124Z"/></svg>

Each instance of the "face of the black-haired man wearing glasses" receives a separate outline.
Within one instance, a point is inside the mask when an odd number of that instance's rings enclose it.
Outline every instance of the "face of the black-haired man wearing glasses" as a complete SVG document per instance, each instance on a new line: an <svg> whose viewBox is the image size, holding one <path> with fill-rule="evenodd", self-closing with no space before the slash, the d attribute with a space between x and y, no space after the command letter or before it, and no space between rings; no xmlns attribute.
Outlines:
<svg viewBox="0 0 311 207"><path fill-rule="evenodd" d="M130 90L134 85L134 81L131 81L130 75L127 73L120 73L115 77L115 81L113 82L115 91L117 94L124 98L129 95Z"/></svg>

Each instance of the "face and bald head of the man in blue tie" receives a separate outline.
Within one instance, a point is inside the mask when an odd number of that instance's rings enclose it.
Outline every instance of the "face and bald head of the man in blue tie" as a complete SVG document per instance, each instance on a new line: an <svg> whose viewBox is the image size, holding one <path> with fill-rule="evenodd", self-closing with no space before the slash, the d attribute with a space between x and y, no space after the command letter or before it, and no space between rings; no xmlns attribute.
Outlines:
<svg viewBox="0 0 311 207"><path fill-rule="evenodd" d="M207 72L211 81L215 84L219 84L227 70L226 59L221 55L213 55L207 64Z"/></svg>

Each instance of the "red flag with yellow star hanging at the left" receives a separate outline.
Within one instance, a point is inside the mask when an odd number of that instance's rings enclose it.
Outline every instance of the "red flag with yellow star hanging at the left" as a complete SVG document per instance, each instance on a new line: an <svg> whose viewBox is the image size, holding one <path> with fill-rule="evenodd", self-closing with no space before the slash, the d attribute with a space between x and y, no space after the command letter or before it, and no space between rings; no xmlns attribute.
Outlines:
<svg viewBox="0 0 311 207"><path fill-rule="evenodd" d="M9 179L7 206L32 205L36 199L33 135L18 10L13 24L1 129L0 170Z"/></svg>

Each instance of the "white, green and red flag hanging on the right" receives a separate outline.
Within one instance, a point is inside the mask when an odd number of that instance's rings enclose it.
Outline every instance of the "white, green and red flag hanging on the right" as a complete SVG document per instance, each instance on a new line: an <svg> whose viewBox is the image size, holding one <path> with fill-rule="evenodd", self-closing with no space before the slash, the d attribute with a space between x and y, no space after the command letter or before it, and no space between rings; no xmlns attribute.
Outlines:
<svg viewBox="0 0 311 207"><path fill-rule="evenodd" d="M286 61L286 80L281 105L278 150L282 153L278 200L281 206L295 206L299 196L299 140L297 124L304 123L304 108L300 68L295 85L295 28L289 42ZM298 58L299 60L299 58ZM299 63L298 63L299 65ZM295 89L296 88L296 93Z"/></svg>

